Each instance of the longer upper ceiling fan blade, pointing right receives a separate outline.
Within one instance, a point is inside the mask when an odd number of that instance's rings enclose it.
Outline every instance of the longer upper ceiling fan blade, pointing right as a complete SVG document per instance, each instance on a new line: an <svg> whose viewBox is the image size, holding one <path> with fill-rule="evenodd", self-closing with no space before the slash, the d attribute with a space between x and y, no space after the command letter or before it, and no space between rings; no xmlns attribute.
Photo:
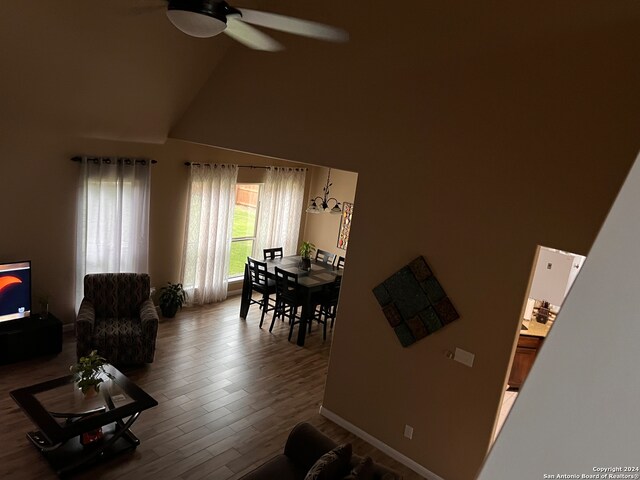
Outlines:
<svg viewBox="0 0 640 480"><path fill-rule="evenodd" d="M282 32L328 40L330 42L346 42L349 40L349 33L345 30L323 23L278 15L277 13L251 10L249 8L239 8L238 10L242 12L240 20L254 25L260 25L261 27L273 28L274 30L280 30Z"/></svg>

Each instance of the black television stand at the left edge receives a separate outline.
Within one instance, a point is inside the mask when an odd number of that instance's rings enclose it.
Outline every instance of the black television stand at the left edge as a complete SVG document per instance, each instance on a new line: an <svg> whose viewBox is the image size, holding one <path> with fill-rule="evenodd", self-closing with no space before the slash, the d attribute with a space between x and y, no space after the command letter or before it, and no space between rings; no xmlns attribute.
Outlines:
<svg viewBox="0 0 640 480"><path fill-rule="evenodd" d="M62 351L62 322L50 313L0 322L0 365Z"/></svg>

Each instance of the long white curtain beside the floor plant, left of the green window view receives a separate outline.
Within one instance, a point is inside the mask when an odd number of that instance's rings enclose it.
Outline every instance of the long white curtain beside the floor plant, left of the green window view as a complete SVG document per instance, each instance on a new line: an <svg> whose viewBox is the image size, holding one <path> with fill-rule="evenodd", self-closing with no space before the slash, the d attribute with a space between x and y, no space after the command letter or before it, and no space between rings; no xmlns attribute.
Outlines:
<svg viewBox="0 0 640 480"><path fill-rule="evenodd" d="M182 284L189 304L227 298L237 165L191 165Z"/></svg>

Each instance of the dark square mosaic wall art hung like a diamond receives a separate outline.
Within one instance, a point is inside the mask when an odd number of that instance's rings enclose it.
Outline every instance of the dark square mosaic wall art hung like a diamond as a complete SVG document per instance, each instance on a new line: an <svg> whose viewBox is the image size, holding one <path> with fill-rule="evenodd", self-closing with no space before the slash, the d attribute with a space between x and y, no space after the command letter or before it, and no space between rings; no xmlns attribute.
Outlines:
<svg viewBox="0 0 640 480"><path fill-rule="evenodd" d="M403 347L460 318L422 256L375 287L373 294Z"/></svg>

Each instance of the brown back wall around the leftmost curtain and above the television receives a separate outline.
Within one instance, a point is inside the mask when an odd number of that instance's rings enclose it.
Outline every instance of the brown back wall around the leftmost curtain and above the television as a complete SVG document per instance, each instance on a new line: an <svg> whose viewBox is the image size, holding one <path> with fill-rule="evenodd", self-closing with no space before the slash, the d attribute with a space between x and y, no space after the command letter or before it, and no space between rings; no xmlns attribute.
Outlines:
<svg viewBox="0 0 640 480"><path fill-rule="evenodd" d="M5 200L0 261L30 259L32 294L50 296L50 310L74 321L75 213L78 154L140 156L152 167L149 273L152 285L179 281L189 169L185 161L290 165L273 158L169 140L164 145L122 143L20 132L0 142ZM264 169L241 168L238 181L261 182ZM34 311L38 307L33 304Z"/></svg>

